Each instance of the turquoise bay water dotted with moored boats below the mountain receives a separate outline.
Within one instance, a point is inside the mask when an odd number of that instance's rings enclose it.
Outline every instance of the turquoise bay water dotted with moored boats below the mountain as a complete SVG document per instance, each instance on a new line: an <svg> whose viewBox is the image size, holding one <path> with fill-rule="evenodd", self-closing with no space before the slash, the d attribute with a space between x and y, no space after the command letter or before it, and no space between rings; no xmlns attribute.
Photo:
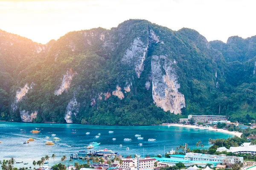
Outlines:
<svg viewBox="0 0 256 170"><path fill-rule="evenodd" d="M40 128L40 133L29 133L30 130ZM21 133L20 129L26 130ZM72 134L72 129L76 129L76 134ZM114 131L109 134L108 131ZM203 131L203 132L202 132ZM56 134L60 140L55 145L45 145L47 140L53 137L48 132ZM90 132L90 135L86 135ZM94 138L101 133L99 138ZM137 140L134 136L140 134L144 140ZM50 139L45 139L49 136ZM107 148L117 151L123 156L138 154L157 155L168 150L175 150L179 145L187 143L189 148L196 148L195 143L201 140L205 148L209 147L208 139L232 137L231 135L212 132L210 130L199 130L187 127L168 127L168 126L98 126L98 125L77 125L77 124L38 124L38 123L17 123L17 122L0 122L0 160L10 159L14 157L17 161L28 162L29 164L15 164L16 167L32 166L32 161L38 161L42 156L52 153L56 155L55 163L60 162L63 155L67 156L66 164L70 154L79 153L79 150L87 150L86 146L90 142L100 142L100 146L94 147L92 150L100 150ZM35 139L29 144L23 144L29 137ZM116 141L112 141L116 138ZM124 138L132 139L131 142L125 142ZM149 138L157 139L155 142L148 142ZM143 146L138 146L142 143ZM119 147L122 144L122 147ZM126 150L129 147L129 150ZM83 154L85 155L85 154ZM49 160L49 164L53 164L53 159Z"/></svg>

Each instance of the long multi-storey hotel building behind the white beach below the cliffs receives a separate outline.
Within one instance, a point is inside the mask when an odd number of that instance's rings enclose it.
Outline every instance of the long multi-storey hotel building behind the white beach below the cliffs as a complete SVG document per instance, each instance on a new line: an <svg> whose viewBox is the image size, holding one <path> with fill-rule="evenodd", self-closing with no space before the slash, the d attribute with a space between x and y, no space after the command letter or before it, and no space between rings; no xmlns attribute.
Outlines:
<svg viewBox="0 0 256 170"><path fill-rule="evenodd" d="M226 116L220 115L189 115L188 118L180 119L180 123L189 122L190 119L194 119L195 122L218 122L218 121L227 121Z"/></svg>

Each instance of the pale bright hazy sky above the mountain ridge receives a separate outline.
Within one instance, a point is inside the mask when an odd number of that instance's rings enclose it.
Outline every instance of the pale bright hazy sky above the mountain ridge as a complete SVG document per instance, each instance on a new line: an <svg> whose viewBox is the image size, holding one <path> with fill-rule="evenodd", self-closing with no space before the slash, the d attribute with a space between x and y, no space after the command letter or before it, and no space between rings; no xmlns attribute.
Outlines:
<svg viewBox="0 0 256 170"><path fill-rule="evenodd" d="M70 31L144 19L227 42L256 35L255 6L255 0L0 0L0 29L45 44Z"/></svg>

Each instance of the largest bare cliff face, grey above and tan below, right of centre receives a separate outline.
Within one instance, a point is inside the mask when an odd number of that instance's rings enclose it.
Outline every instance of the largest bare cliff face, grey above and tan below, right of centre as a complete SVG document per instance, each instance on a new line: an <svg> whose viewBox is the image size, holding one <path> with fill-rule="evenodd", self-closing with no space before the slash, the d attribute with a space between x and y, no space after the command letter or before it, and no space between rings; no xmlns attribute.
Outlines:
<svg viewBox="0 0 256 170"><path fill-rule="evenodd" d="M177 82L175 65L176 61L166 56L152 56L152 97L154 103L164 111L179 114L181 108L185 107L185 98L178 91L180 84Z"/></svg>

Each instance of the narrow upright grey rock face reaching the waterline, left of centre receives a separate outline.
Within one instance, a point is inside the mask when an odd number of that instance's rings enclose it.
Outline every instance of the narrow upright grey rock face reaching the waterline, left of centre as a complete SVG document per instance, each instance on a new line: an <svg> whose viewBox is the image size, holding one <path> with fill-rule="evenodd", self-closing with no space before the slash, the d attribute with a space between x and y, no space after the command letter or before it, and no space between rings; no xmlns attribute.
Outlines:
<svg viewBox="0 0 256 170"><path fill-rule="evenodd" d="M79 103L76 101L76 97L74 96L67 105L66 114L64 119L67 123L73 123L72 115L76 116L79 112Z"/></svg>

